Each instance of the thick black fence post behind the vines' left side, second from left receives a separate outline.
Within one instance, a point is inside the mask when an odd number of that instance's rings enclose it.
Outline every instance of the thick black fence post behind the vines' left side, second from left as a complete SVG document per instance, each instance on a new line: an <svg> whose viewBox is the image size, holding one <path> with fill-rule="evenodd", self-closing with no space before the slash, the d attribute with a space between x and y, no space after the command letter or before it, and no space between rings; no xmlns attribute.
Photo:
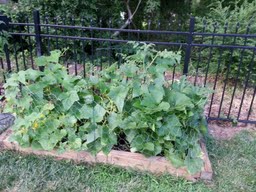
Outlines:
<svg viewBox="0 0 256 192"><path fill-rule="evenodd" d="M35 27L35 39L36 39L36 56L42 56L42 39L41 39L41 26L40 26L40 13L38 10L34 10L34 27ZM40 71L43 71L43 67L39 67Z"/></svg>

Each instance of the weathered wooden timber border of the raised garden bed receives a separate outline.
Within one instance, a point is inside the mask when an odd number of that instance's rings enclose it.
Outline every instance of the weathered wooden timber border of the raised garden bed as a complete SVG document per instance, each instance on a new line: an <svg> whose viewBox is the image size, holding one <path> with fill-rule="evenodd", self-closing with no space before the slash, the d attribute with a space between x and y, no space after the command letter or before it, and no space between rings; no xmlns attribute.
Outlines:
<svg viewBox="0 0 256 192"><path fill-rule="evenodd" d="M108 165L115 165L125 168L131 168L134 170L148 171L154 174L170 174L174 176L184 177L187 180L211 180L212 179L212 167L207 154L207 150L204 142L201 141L202 159L204 166L202 170L196 174L189 174L186 168L175 168L170 161L164 157L150 157L146 158L139 153L131 153L125 151L111 150L106 156L102 152L96 156L91 155L85 151L67 151L64 153L58 153L55 150L43 151L33 150L32 148L22 148L15 142L10 142L11 129L6 130L0 135L0 149L14 150L24 154L35 154L39 156L51 156L57 160L68 159L74 162L86 162L86 163L103 163Z"/></svg>

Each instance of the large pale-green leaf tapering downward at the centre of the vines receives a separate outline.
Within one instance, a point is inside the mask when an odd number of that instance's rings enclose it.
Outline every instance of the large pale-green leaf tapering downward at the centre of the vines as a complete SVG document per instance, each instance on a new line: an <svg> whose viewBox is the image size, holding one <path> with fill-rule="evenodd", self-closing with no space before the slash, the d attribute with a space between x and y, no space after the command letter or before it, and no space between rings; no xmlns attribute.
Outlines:
<svg viewBox="0 0 256 192"><path fill-rule="evenodd" d="M117 87L111 87L108 96L113 100L119 112L123 111L124 100L129 91L129 87L119 85Z"/></svg>

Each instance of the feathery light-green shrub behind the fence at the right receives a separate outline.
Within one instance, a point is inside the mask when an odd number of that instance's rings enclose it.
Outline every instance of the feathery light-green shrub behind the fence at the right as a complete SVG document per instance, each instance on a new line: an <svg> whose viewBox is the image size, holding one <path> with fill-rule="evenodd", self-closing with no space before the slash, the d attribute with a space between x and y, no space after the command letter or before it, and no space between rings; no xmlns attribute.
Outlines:
<svg viewBox="0 0 256 192"><path fill-rule="evenodd" d="M231 6L232 5L232 6ZM237 34L255 34L256 33L256 1L236 1L229 6L224 1L216 1L209 6L210 11L205 17L198 17L198 31L212 33L237 33ZM205 37L203 43L212 44L213 37ZM202 39L196 39L202 41ZM219 45L240 45L252 46L256 44L252 37L214 37L214 44ZM196 50L198 51L198 50ZM250 74L249 83L253 86L256 79L256 66L254 62L253 49L216 49L206 48L201 52L201 70L207 70L207 63L211 56L210 72L228 74L229 79L236 79L244 83ZM198 57L197 57L198 59ZM220 61L220 68L217 65Z"/></svg>

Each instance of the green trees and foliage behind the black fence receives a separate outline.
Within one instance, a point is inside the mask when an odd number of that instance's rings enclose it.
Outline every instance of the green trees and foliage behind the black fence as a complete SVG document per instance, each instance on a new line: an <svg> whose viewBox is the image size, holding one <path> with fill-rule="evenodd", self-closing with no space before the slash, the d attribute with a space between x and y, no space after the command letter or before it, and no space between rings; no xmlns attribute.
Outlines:
<svg viewBox="0 0 256 192"><path fill-rule="evenodd" d="M188 30L188 18L190 14L196 16L196 31L216 32L216 33L238 33L238 34L255 34L256 33L256 3L252 0L240 0L240 1L209 1L209 0L138 0L138 1L105 1L105 0L93 0L93 1L29 1L19 0L11 1L7 5L1 5L0 9L7 15L9 15L14 21L25 21L27 16L32 16L32 11L37 8L41 11L42 15L47 15L51 22L63 23L65 20L66 24L71 25L92 25L102 27L123 27L126 21L129 19L129 11L134 16L129 26L125 28L135 29L148 29L149 22L151 20L151 28L161 28L164 30ZM137 9L138 8L138 9ZM136 10L136 11L135 11ZM206 11L207 10L207 11ZM63 15L65 13L65 15ZM122 16L121 16L122 15ZM42 19L45 17L42 16ZM81 22L81 20L83 20ZM161 22L158 22L161 20ZM110 22L111 21L111 22ZM100 23L100 24L99 24ZM171 23L171 25L170 25ZM175 23L175 24L172 24ZM180 26L180 23L184 26ZM239 23L239 24L238 24ZM18 29L23 30L23 29ZM24 28L24 30L27 30ZM33 29L32 29L33 30ZM46 30L45 28L43 29ZM46 31L45 31L46 32ZM74 30L59 30L50 31L51 34L67 34L67 35L81 35L80 31L75 32ZM91 32L85 32L83 35L91 36ZM94 32L94 37L107 37L109 38L112 34ZM136 34L133 34L134 39L137 38ZM121 34L117 38L127 38L126 34ZM181 37L167 37L167 36L149 36L144 37L141 35L141 40L150 38L150 40L164 40L171 42L183 42L186 41ZM133 38L131 38L133 39ZM196 42L203 42L211 44L212 37L206 37L203 40L195 39ZM21 42L24 41L23 48L29 49L27 40L13 39L13 41ZM46 52L46 39L43 39L44 52ZM49 40L47 40L49 41ZM56 40L51 39L51 44L54 44ZM236 38L228 37L225 40L222 37L215 37L215 44L226 44L226 45L250 45L255 46L255 38ZM84 44L84 45L81 45ZM12 43L11 43L12 45ZM10 46L11 46L10 45ZM61 48L67 48L67 53L71 60L75 59L74 55L81 58L82 53L92 55L92 51L95 52L97 48L109 48L109 44L100 44L95 42L92 45L91 42L59 42ZM81 49L81 47L84 47ZM93 46L93 48L92 48ZM72 50L72 47L80 47L78 50ZM122 49L120 46L118 49ZM17 48L20 49L19 47ZM94 50L93 50L94 49ZM256 68L255 65L251 64L252 51L242 51L236 49L220 49L210 48L200 49L202 52L201 62L199 64L200 72L203 74L209 70L209 73L216 74L229 74L228 79L238 79L242 84L245 82L247 74L251 72L250 83L253 84L256 79ZM76 52L76 53L75 53ZM115 52L115 51L114 51ZM198 58L198 49L195 49L194 56ZM222 53L221 53L222 52ZM200 53L201 54L201 53ZM218 61L221 56L221 64L218 66ZM68 54L67 54L68 55ZM212 56L210 56L212 55ZM243 55L243 56L241 56ZM209 57L211 64L208 66ZM81 61L80 61L81 63ZM240 64L241 63L241 64ZM192 67L194 67L192 59Z"/></svg>

